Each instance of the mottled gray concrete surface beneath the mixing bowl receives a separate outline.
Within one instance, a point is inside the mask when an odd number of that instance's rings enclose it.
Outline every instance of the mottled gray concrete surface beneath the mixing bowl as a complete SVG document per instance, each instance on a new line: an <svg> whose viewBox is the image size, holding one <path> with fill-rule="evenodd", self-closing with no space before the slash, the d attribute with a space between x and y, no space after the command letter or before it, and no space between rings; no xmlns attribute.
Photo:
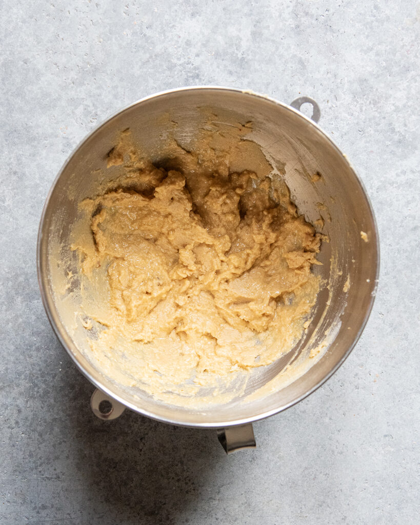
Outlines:
<svg viewBox="0 0 420 525"><path fill-rule="evenodd" d="M419 4L1 5L0 523L419 523ZM350 358L231 457L211 431L96 419L36 279L41 209L70 151L125 104L204 83L315 98L366 185L382 248Z"/></svg>

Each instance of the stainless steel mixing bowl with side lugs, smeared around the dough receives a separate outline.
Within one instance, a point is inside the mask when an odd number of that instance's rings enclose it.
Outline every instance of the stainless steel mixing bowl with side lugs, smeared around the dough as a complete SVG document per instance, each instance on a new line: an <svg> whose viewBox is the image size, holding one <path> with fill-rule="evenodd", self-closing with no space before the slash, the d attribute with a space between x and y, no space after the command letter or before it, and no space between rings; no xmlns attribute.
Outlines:
<svg viewBox="0 0 420 525"><path fill-rule="evenodd" d="M297 99L295 108L306 100ZM312 103L312 101L311 101ZM178 123L175 135L188 140L202 127L203 112L211 108L217 119L253 122L250 137L284 176L292 198L307 220L324 219L322 233L330 242L322 243L316 271L329 283L319 293L315 316L306 334L288 355L253 374L245 394L279 377L278 387L254 401L244 397L206 409L179 407L154 400L134 387L119 384L92 365L86 331L69 330L74 325L77 304L66 300L68 267L74 260L69 235L78 214L78 203L95 195L106 171L107 153L119 132L130 128L132 136L159 161L161 138L166 136L167 119ZM313 120L319 110L313 103ZM135 102L101 124L79 144L58 174L47 197L38 238L38 278L44 306L51 325L64 348L81 372L95 384L93 411L102 418L118 416L124 407L159 421L194 427L225 428L219 439L227 451L254 443L249 423L280 412L316 390L349 355L369 317L379 270L379 244L369 199L348 159L318 125L297 109L257 95L220 87L184 88L158 93ZM97 171L101 170L101 171ZM98 176L101 173L101 176ZM311 177L320 174L314 183ZM280 175L278 175L280 176ZM315 177L317 178L317 177ZM363 233L362 233L363 232ZM350 288L346 291L346 282ZM72 286L78 286L78 282ZM73 333L74 332L74 333ZM309 352L322 349L319 359ZM295 376L281 382L289 365ZM289 376L290 377L290 376ZM109 400L107 411L100 402Z"/></svg>

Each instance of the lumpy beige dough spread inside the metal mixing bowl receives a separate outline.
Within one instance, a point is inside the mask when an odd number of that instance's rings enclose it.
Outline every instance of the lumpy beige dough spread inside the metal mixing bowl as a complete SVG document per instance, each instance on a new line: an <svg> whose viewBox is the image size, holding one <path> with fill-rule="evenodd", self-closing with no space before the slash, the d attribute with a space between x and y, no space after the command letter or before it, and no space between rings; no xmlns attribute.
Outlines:
<svg viewBox="0 0 420 525"><path fill-rule="evenodd" d="M85 277L103 279L102 299L85 306L101 327L92 353L157 397L272 363L301 337L316 300L321 236L265 159L254 162L259 173L232 171L229 152L250 142L241 133L225 156L209 148L211 135L198 153L173 143L177 169L119 144L108 165L123 170L120 183L82 205L90 232L74 249Z"/></svg>

